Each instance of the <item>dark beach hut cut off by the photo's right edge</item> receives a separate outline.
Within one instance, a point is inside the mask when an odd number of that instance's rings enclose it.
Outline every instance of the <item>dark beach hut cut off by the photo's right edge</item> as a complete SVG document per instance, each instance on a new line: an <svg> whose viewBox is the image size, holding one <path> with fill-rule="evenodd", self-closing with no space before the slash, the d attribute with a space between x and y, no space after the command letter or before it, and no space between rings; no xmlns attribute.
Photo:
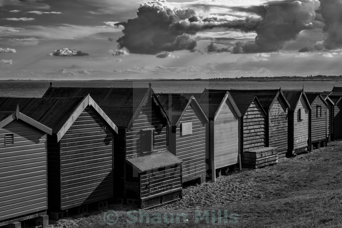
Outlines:
<svg viewBox="0 0 342 228"><path fill-rule="evenodd" d="M329 95L328 98L333 103L333 139L342 137L342 96ZM327 100L328 100L327 98Z"/></svg>

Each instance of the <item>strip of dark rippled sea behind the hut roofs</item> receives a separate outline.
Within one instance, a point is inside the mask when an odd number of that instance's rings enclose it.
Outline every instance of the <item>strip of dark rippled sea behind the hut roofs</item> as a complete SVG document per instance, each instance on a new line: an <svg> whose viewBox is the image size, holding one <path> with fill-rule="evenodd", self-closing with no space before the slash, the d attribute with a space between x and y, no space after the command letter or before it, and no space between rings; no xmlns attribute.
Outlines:
<svg viewBox="0 0 342 228"><path fill-rule="evenodd" d="M307 92L331 91L342 81L53 81L53 87L148 87L155 93L201 93L207 89L296 89ZM42 97L49 81L0 81L0 96Z"/></svg>

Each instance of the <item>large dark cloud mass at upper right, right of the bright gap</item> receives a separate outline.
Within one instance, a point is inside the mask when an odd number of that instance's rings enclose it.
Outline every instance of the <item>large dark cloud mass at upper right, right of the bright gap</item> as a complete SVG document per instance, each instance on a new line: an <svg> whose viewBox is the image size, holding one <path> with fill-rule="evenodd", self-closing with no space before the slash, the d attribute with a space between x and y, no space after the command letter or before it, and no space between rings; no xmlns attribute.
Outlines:
<svg viewBox="0 0 342 228"><path fill-rule="evenodd" d="M254 43L236 43L233 53L273 52L284 47L287 41L294 40L305 29L321 27L315 21L316 0L286 0L268 2L265 6L236 8L261 16L261 23L255 29Z"/></svg>

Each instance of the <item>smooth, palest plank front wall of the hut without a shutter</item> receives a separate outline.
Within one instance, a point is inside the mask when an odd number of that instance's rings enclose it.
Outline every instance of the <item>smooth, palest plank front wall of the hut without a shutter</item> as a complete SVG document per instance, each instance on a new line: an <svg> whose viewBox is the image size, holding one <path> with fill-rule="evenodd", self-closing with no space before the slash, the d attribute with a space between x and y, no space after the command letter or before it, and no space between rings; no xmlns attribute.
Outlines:
<svg viewBox="0 0 342 228"><path fill-rule="evenodd" d="M215 168L239 162L239 120L227 99L214 121Z"/></svg>

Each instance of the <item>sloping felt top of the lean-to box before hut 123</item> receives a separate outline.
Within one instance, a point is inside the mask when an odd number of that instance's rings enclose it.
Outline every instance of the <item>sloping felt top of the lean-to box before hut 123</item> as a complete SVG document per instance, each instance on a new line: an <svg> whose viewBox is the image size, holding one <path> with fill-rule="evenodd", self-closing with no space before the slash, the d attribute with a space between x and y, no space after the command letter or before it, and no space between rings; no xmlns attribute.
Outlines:
<svg viewBox="0 0 342 228"><path fill-rule="evenodd" d="M127 158L126 162L131 164L141 173L169 165L181 164L182 160L174 156L169 151L164 151L145 156Z"/></svg>

